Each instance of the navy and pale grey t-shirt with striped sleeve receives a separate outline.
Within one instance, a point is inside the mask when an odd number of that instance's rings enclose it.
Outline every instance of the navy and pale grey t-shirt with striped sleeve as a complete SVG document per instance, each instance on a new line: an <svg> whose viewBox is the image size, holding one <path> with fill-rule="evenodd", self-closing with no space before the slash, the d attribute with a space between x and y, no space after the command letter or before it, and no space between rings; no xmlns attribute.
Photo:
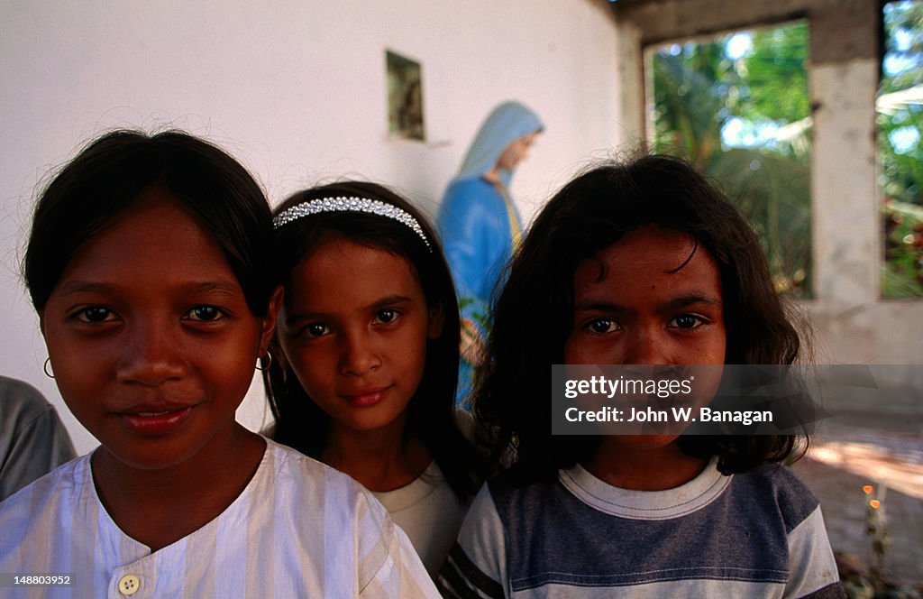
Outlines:
<svg viewBox="0 0 923 599"><path fill-rule="evenodd" d="M666 491L580 466L481 490L442 569L460 597L841 597L817 499L782 466L714 462Z"/></svg>

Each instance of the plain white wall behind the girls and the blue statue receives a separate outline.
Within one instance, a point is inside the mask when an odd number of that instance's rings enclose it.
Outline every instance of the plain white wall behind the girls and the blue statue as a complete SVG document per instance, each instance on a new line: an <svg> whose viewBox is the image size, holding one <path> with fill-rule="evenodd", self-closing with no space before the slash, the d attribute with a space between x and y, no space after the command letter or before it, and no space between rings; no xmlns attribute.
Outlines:
<svg viewBox="0 0 923 599"><path fill-rule="evenodd" d="M388 138L386 48L423 65L425 144ZM512 185L529 218L588 158L625 142L617 67L604 0L5 0L0 373L58 405L78 450L95 445L42 374L18 271L42 182L102 130L204 136L249 167L272 202L366 177L435 214L483 117L518 99L547 126ZM260 401L246 407L242 420L258 426Z"/></svg>

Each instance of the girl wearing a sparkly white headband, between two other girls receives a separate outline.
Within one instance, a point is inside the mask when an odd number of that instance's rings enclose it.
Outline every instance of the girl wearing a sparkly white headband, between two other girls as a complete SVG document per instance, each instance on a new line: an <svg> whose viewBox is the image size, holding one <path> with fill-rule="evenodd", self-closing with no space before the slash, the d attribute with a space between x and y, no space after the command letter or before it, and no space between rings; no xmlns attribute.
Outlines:
<svg viewBox="0 0 923 599"><path fill-rule="evenodd" d="M460 430L471 420L454 408L458 304L438 239L409 202L365 182L296 193L274 222L274 438L373 491L435 573L482 479Z"/></svg>

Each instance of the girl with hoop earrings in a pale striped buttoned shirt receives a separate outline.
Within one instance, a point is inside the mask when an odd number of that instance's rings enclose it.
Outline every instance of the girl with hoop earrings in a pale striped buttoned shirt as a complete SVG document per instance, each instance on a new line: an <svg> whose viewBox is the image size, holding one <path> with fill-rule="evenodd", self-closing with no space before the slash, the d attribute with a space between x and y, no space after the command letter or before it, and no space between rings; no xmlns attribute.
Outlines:
<svg viewBox="0 0 923 599"><path fill-rule="evenodd" d="M366 489L234 420L271 361L273 250L257 182L182 132L108 133L43 191L45 372L101 446L0 504L5 597L438 596Z"/></svg>

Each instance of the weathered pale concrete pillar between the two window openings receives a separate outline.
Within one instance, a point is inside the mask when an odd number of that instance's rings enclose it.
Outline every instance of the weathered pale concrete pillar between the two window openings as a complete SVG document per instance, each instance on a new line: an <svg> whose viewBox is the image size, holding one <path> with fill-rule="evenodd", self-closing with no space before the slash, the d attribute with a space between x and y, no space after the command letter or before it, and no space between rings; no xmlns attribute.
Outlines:
<svg viewBox="0 0 923 599"><path fill-rule="evenodd" d="M846 2L809 19L814 294L841 309L880 296L876 4Z"/></svg>

